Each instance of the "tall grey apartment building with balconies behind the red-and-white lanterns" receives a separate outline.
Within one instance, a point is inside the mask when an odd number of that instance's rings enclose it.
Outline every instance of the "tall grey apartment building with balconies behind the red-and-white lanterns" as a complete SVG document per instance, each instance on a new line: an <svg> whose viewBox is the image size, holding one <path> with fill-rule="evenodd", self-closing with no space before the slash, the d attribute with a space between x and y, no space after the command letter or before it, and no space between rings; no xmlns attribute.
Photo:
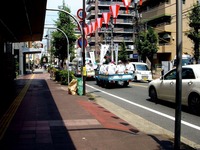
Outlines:
<svg viewBox="0 0 200 150"><path fill-rule="evenodd" d="M135 11L134 6L130 5L128 12L126 12L126 7L124 6L122 0L87 0L87 24L95 21L96 18L101 18L102 13L110 12L109 7L114 4L120 5L116 22L112 21L113 19L111 16L108 24L103 22L102 27L96 31L96 34L90 34L87 38L89 45L87 51L95 51L98 55L100 44L110 44L110 48L118 44L120 50L120 44L124 42L128 52L128 58L134 58L133 54L137 55L133 42L135 35L135 19L133 16ZM138 58L135 57L135 59L137 60Z"/></svg>

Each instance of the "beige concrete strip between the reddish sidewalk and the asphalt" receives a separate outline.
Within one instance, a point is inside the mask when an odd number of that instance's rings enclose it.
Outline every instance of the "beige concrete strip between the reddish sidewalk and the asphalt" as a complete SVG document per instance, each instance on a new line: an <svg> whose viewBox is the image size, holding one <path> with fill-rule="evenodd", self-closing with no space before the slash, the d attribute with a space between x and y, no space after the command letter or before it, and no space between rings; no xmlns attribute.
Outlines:
<svg viewBox="0 0 200 150"><path fill-rule="evenodd" d="M92 98L98 105L104 107L105 109L109 110L119 118L123 118L126 122L130 125L136 127L138 130L146 133L146 134L156 134L156 135L163 135L167 139L173 142L174 140L174 133L168 131L138 115L133 114L132 112L115 105L112 102L109 102L106 99L99 98L95 94L88 94L90 98ZM124 115L126 114L126 115ZM200 145L188 140L187 138L181 137L181 142L185 145L188 145L194 149L200 149Z"/></svg>

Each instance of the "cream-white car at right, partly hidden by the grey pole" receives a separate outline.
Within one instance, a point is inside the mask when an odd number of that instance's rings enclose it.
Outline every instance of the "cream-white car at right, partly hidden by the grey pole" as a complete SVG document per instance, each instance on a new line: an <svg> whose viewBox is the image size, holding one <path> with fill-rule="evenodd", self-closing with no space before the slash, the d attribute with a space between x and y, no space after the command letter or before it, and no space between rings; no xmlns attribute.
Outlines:
<svg viewBox="0 0 200 150"><path fill-rule="evenodd" d="M149 83L149 97L158 102L165 100L175 103L176 68L159 79ZM188 106L192 113L200 114L200 64L182 67L182 105Z"/></svg>

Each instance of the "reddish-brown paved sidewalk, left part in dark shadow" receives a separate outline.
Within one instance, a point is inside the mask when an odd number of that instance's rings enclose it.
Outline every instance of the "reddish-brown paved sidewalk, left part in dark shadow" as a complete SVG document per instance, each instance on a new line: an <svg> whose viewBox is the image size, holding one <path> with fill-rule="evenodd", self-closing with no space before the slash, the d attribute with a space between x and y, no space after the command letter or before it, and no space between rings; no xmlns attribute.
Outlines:
<svg viewBox="0 0 200 150"><path fill-rule="evenodd" d="M69 95L48 73L22 76L17 83L25 87L0 120L1 150L173 149L172 139L139 131L88 96Z"/></svg>

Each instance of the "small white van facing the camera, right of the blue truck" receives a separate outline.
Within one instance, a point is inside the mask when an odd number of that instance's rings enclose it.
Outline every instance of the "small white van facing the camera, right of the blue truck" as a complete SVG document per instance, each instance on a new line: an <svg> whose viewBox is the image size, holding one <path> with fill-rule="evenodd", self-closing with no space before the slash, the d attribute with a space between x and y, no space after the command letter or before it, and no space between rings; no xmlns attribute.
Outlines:
<svg viewBox="0 0 200 150"><path fill-rule="evenodd" d="M148 65L143 62L132 62L134 66L134 80L135 81L148 81L152 80L152 73L149 70Z"/></svg>

